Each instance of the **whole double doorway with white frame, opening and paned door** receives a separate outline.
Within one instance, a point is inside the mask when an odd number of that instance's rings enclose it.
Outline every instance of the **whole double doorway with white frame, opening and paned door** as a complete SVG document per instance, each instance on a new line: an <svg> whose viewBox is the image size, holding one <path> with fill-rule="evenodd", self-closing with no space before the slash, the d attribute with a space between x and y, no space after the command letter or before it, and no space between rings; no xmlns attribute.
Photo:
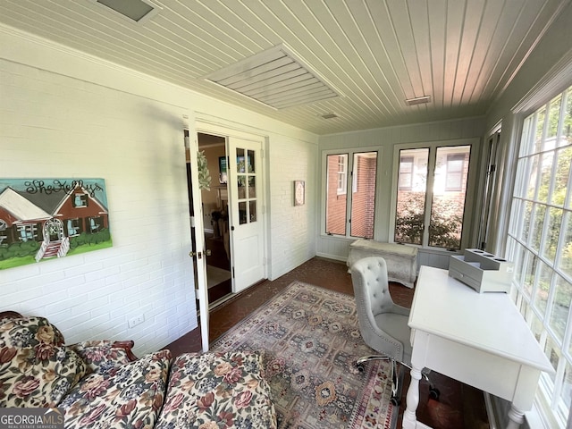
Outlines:
<svg viewBox="0 0 572 429"><path fill-rule="evenodd" d="M188 168L194 181L189 180L189 187L200 191L200 198L193 202L192 192L189 198L196 212L191 228L198 225L196 239L204 241L203 252L197 249L196 257L206 256L201 270L205 276L197 284L204 296L199 304L205 301L207 315L209 309L266 278L265 138L197 123Z"/></svg>

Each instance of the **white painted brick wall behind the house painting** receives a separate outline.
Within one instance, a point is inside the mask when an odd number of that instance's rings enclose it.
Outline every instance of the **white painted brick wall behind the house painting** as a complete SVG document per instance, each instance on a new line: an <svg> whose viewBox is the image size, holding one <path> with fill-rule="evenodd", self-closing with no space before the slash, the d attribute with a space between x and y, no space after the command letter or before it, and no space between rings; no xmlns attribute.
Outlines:
<svg viewBox="0 0 572 429"><path fill-rule="evenodd" d="M0 60L0 175L105 179L114 247L0 272L0 310L44 315L66 342L197 326L183 109ZM145 315L128 329L127 321Z"/></svg>

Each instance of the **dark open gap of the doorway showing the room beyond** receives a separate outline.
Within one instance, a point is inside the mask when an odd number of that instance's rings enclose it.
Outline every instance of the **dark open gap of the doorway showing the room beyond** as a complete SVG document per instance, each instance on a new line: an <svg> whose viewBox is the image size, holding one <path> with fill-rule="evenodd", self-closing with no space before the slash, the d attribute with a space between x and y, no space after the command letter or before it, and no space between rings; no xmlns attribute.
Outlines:
<svg viewBox="0 0 572 429"><path fill-rule="evenodd" d="M206 163L210 184L201 186L206 245L206 278L209 307L231 296L231 246L226 172L226 139L198 132L199 162ZM208 180L206 180L207 182Z"/></svg>

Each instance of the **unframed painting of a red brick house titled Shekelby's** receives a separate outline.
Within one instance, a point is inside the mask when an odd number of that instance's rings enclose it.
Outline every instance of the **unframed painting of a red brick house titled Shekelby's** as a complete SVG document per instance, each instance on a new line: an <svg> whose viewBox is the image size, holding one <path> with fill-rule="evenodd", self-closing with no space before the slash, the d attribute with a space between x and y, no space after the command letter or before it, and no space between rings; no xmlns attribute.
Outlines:
<svg viewBox="0 0 572 429"><path fill-rule="evenodd" d="M111 246L104 179L0 179L0 270Z"/></svg>

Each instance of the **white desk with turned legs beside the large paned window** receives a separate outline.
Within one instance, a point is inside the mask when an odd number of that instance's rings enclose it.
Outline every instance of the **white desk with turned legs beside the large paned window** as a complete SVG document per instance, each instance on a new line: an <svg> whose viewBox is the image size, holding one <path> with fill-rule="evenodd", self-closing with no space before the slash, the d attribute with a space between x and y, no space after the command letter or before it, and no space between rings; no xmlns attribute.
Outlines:
<svg viewBox="0 0 572 429"><path fill-rule="evenodd" d="M408 325L413 369L406 429L428 427L415 414L424 367L511 401L510 429L532 408L541 372L553 372L507 294L477 293L446 270L421 266Z"/></svg>

